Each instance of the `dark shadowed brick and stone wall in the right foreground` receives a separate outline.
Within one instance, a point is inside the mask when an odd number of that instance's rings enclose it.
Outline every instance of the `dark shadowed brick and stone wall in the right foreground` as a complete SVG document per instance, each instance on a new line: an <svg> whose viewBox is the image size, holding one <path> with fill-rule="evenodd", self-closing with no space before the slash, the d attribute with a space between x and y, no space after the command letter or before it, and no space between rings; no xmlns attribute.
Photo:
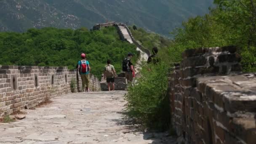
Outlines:
<svg viewBox="0 0 256 144"><path fill-rule="evenodd" d="M189 49L169 75L172 125L187 144L256 144L256 74L233 46Z"/></svg>

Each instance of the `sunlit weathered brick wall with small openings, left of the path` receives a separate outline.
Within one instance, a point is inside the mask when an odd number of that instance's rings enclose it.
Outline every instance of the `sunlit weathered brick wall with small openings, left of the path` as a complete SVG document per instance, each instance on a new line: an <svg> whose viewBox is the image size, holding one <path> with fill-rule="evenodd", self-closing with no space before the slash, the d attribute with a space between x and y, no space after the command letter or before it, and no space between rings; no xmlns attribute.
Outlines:
<svg viewBox="0 0 256 144"><path fill-rule="evenodd" d="M0 117L70 92L75 77L67 67L0 66ZM99 91L98 78L90 79L91 90Z"/></svg>

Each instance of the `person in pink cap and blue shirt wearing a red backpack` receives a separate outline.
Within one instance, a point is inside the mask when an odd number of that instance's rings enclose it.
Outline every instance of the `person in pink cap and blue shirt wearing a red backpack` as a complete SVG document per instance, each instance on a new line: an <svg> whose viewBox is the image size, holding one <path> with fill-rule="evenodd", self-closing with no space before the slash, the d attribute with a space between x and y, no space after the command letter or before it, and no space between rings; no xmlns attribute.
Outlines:
<svg viewBox="0 0 256 144"><path fill-rule="evenodd" d="M89 61L86 60L85 53L81 54L82 60L78 61L78 68L82 79L82 88L85 88L85 92L88 92L89 88L89 73L91 70ZM86 87L85 87L86 86Z"/></svg>

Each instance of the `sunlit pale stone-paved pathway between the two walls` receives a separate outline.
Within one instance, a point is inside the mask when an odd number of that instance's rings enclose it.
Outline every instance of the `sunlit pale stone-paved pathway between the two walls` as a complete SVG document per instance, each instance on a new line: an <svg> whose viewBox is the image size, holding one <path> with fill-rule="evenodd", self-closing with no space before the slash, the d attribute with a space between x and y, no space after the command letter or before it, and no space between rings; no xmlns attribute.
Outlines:
<svg viewBox="0 0 256 144"><path fill-rule="evenodd" d="M124 122L125 91L70 93L26 118L0 123L0 144L176 144L167 133L144 133Z"/></svg>

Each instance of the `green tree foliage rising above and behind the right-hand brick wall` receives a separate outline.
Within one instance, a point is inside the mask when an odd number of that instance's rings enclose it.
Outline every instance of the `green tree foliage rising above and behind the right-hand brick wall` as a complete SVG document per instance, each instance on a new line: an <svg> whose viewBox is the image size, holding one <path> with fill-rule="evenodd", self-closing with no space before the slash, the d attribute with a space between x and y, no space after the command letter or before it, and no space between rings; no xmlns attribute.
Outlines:
<svg viewBox="0 0 256 144"><path fill-rule="evenodd" d="M256 0L215 0L210 13L183 22L174 40L160 51L166 61L181 61L187 48L236 45L244 72L256 71Z"/></svg>

